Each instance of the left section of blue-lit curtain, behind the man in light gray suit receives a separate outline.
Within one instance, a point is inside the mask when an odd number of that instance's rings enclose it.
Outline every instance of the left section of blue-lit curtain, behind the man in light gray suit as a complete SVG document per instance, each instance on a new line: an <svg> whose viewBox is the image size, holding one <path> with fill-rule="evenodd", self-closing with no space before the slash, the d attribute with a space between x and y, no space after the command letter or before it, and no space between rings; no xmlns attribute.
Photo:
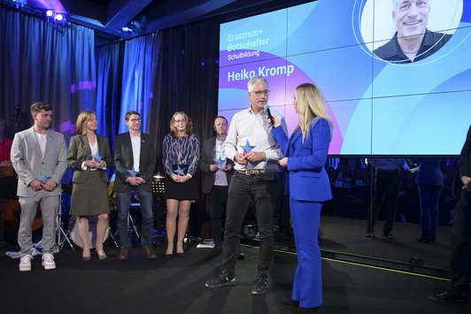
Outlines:
<svg viewBox="0 0 471 314"><path fill-rule="evenodd" d="M0 41L0 116L11 133L31 126L29 106L45 101L53 106L54 128L70 137L71 119L97 106L93 30L72 25L61 33L0 7Z"/></svg>

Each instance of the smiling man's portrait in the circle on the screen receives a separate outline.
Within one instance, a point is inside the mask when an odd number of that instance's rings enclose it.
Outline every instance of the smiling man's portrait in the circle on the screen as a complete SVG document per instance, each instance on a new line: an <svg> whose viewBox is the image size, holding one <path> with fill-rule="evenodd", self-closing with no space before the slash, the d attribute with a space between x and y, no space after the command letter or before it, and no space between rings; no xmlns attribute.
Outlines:
<svg viewBox="0 0 471 314"><path fill-rule="evenodd" d="M396 33L373 51L376 57L393 64L417 62L436 53L452 37L427 28L433 0L390 1Z"/></svg>

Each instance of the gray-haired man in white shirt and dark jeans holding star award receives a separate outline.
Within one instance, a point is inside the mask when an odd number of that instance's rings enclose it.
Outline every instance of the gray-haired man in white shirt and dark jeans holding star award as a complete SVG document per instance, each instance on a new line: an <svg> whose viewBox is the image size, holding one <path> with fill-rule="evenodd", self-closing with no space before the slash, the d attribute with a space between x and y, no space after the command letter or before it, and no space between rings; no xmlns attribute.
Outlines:
<svg viewBox="0 0 471 314"><path fill-rule="evenodd" d="M273 261L273 213L277 198L277 172L268 171L269 160L282 158L282 150L271 134L266 111L268 82L264 77L251 78L247 84L251 106L235 113L224 142L225 156L235 162L235 173L228 189L226 225L223 243L221 272L218 278L206 282L206 287L235 285L235 264L239 249L243 218L251 201L257 213L260 234L259 266L252 295L265 295L268 271ZM276 113L274 113L276 114ZM284 119L282 121L286 132Z"/></svg>

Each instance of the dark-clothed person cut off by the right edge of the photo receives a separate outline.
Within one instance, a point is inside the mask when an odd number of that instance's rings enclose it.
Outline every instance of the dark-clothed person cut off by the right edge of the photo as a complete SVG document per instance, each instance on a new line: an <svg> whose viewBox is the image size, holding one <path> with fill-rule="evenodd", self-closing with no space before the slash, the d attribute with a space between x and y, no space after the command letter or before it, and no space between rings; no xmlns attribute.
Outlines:
<svg viewBox="0 0 471 314"><path fill-rule="evenodd" d="M471 126L459 156L459 176L463 187L452 229L450 288L429 299L440 303L467 303L471 272Z"/></svg>

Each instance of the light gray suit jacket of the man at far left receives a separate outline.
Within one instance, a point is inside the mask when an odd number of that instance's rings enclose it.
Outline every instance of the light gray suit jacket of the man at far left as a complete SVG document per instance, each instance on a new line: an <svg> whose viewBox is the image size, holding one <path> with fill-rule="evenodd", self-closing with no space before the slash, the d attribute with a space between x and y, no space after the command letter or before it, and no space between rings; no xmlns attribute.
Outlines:
<svg viewBox="0 0 471 314"><path fill-rule="evenodd" d="M67 168L67 147L64 135L48 130L46 149L42 157L41 148L33 127L15 134L12 144L12 165L18 173L17 195L33 197L36 191L29 183L45 174L58 183L49 195L61 195L61 180Z"/></svg>

